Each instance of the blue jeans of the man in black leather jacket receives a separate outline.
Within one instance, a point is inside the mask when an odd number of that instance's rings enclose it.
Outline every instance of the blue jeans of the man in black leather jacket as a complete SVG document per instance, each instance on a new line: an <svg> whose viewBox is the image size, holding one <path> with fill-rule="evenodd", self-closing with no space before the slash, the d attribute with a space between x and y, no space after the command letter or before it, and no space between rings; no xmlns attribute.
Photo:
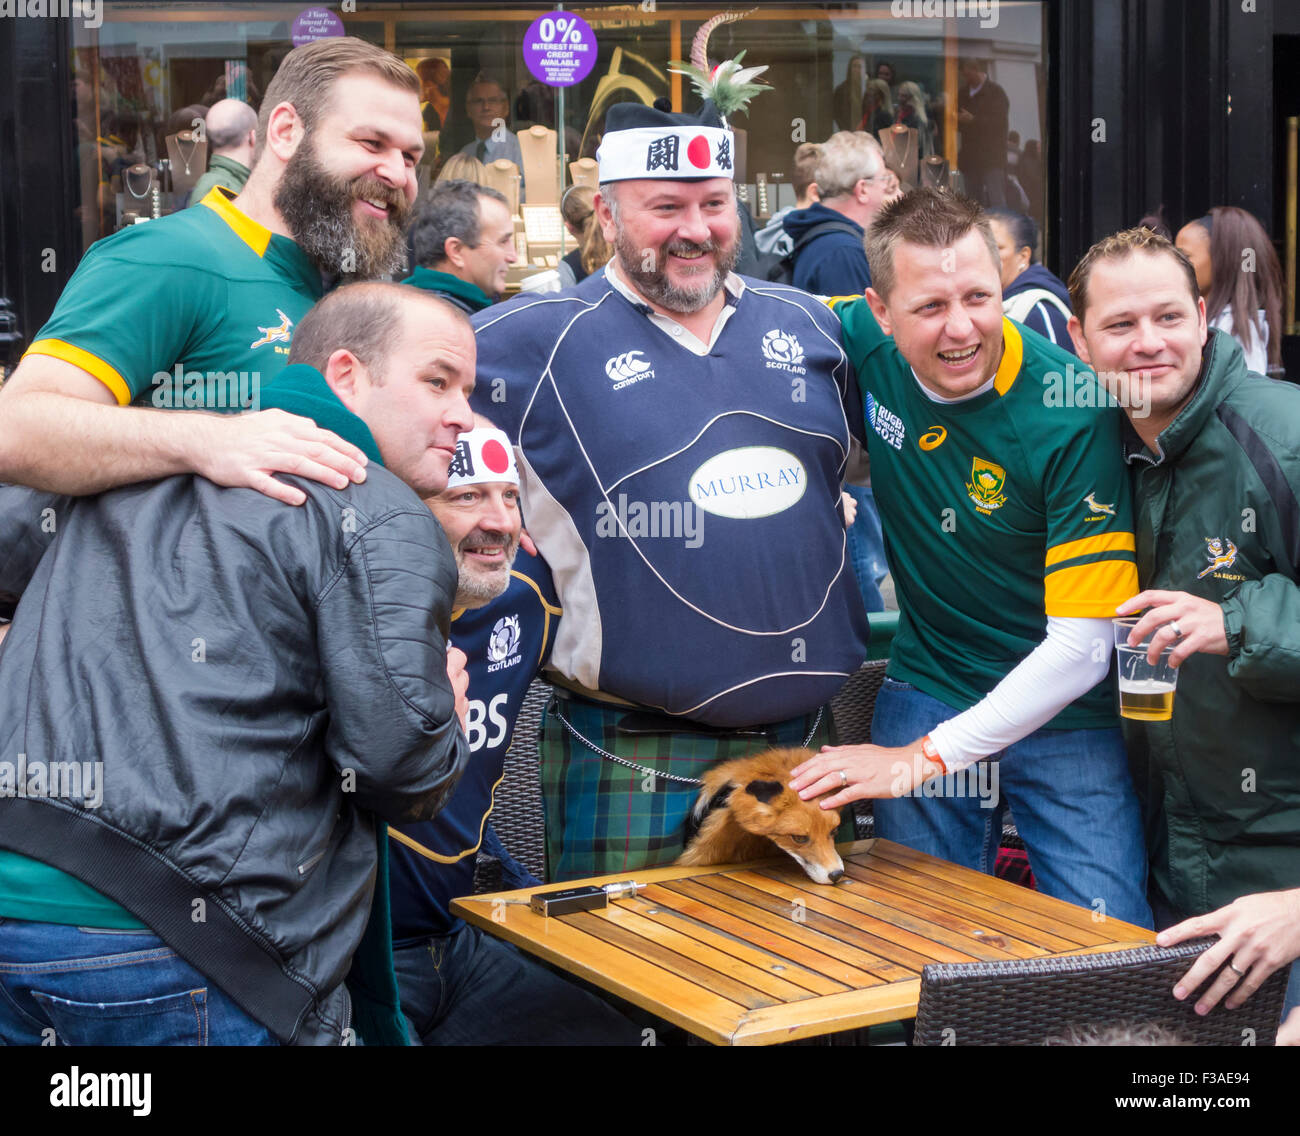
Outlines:
<svg viewBox="0 0 1300 1136"><path fill-rule="evenodd" d="M0 1045L278 1045L150 931L0 918Z"/></svg>

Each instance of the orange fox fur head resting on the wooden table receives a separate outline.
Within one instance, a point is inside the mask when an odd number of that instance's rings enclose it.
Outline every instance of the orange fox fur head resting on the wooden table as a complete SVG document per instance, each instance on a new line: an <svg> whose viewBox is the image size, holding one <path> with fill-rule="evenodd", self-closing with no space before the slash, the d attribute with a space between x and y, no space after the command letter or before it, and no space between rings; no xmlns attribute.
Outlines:
<svg viewBox="0 0 1300 1136"><path fill-rule="evenodd" d="M816 884L844 875L835 850L836 810L822 808L790 789L790 771L809 760L809 750L764 750L715 766L688 819L694 837L680 864L728 864L771 855L775 844L793 857Z"/></svg>

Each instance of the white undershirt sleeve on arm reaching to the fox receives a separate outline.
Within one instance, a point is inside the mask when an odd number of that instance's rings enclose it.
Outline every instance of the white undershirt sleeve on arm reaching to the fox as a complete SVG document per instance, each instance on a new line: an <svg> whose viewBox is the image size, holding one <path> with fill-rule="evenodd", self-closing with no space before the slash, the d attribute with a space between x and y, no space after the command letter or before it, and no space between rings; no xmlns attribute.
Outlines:
<svg viewBox="0 0 1300 1136"><path fill-rule="evenodd" d="M980 702L930 732L948 771L996 754L1049 723L1106 677L1114 645L1109 619L1049 615L1041 643Z"/></svg>

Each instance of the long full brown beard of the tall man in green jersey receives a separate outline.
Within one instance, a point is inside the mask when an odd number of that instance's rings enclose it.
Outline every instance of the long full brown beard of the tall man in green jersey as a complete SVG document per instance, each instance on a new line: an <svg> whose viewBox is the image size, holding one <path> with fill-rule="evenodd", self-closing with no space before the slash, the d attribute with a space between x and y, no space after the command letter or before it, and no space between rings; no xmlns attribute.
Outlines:
<svg viewBox="0 0 1300 1136"><path fill-rule="evenodd" d="M358 222L352 207L363 198L386 204L387 220ZM311 136L285 166L273 200L294 240L321 272L369 279L406 264L402 231L411 205L403 192L372 175L335 177L321 165Z"/></svg>

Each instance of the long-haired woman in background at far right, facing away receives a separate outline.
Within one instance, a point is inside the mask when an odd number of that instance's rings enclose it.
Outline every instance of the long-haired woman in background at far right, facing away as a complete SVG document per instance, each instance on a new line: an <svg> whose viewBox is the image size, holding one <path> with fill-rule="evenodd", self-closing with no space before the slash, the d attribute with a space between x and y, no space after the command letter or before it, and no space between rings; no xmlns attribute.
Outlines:
<svg viewBox="0 0 1300 1136"><path fill-rule="evenodd" d="M1212 328L1227 331L1260 374L1282 369L1282 264L1264 226L1245 209L1219 205L1188 221L1174 242L1196 269Z"/></svg>

